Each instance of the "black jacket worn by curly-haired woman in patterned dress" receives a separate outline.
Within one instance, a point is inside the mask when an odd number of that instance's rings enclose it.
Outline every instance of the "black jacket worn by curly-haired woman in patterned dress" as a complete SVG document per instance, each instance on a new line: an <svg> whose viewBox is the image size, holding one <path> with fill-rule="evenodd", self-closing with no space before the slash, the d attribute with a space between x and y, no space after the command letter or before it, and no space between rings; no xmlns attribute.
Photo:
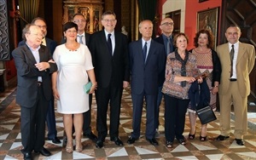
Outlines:
<svg viewBox="0 0 256 160"><path fill-rule="evenodd" d="M189 50L189 53L192 53L193 49ZM213 49L212 50L212 65L213 65L213 70L212 70L212 87L214 87L214 82L217 81L220 83L220 75L221 75L221 65L220 61L218 59L218 54L215 52Z"/></svg>

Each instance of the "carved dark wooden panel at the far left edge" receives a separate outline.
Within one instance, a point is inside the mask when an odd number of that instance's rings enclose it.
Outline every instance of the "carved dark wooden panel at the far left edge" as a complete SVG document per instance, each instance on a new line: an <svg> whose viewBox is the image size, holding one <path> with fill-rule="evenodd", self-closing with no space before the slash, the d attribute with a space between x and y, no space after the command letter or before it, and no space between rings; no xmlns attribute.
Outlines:
<svg viewBox="0 0 256 160"><path fill-rule="evenodd" d="M0 60L9 60L9 31L6 0L0 0Z"/></svg>

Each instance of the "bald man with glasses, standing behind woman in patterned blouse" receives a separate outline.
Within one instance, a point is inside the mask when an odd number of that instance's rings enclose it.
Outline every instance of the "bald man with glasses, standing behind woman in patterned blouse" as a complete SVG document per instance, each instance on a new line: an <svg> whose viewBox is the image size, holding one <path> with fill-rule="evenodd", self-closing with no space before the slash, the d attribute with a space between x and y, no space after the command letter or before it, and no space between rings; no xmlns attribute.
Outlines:
<svg viewBox="0 0 256 160"><path fill-rule="evenodd" d="M166 50L166 57L168 54L172 53L175 50L175 46L173 45L173 20L171 18L165 18L160 23L160 30L162 31L162 34L160 37L154 38L154 41L161 43L165 46ZM166 64L166 62L165 62ZM166 66L166 65L165 65ZM162 101L162 89L163 89L163 83L166 80L166 70L163 70L160 73L160 80L159 80L159 87L158 87L158 95L157 95L157 111L155 112L155 131L158 132L158 126L159 126L159 111L160 111L160 105Z"/></svg>

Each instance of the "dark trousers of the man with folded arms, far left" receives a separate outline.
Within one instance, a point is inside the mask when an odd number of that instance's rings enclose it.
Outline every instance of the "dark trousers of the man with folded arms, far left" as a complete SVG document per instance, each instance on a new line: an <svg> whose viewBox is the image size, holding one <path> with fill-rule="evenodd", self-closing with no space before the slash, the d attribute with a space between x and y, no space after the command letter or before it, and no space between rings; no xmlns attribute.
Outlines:
<svg viewBox="0 0 256 160"><path fill-rule="evenodd" d="M20 106L21 143L23 153L40 151L44 147L45 118L49 101L45 100L43 88L38 87L37 102L32 107Z"/></svg>

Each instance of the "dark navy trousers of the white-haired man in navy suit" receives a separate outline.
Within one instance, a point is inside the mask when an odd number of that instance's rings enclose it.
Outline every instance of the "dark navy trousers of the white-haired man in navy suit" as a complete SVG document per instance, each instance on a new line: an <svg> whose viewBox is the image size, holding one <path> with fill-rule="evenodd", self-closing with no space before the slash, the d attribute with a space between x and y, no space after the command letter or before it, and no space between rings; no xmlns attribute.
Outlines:
<svg viewBox="0 0 256 160"><path fill-rule="evenodd" d="M143 94L132 94L132 105L133 105L133 113L132 113L132 129L133 132L131 136L133 138L139 138L141 132L141 121L142 121L142 113L143 113L143 99L146 101L146 138L153 139L155 136L155 112L157 110L156 100L157 94L155 95L147 95Z"/></svg>

